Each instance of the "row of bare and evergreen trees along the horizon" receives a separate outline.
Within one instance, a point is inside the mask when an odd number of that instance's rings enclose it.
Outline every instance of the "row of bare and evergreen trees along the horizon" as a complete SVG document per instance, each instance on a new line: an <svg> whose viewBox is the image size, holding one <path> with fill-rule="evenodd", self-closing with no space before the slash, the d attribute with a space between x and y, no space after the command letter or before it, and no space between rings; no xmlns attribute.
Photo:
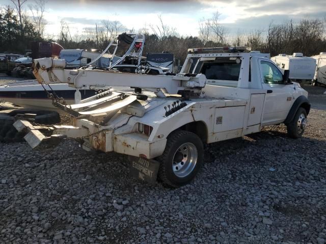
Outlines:
<svg viewBox="0 0 326 244"><path fill-rule="evenodd" d="M138 32L146 36L144 55L148 52L173 52L183 62L187 49L192 47L249 46L252 50L270 53L291 54L303 52L311 56L326 51L326 17L323 19L303 18L300 21L271 22L266 29L255 29L235 35L220 22L221 14L198 21L198 36L181 36L175 27L164 23L159 15L157 25L144 25L142 29L128 29L118 20L101 20L94 27L85 27L81 33L71 33L71 24L60 22L60 33L48 36L44 0L11 0L12 6L0 11L0 52L23 53L30 48L31 41L55 41L66 49L103 50L113 37L123 32ZM28 10L28 11L26 11Z"/></svg>

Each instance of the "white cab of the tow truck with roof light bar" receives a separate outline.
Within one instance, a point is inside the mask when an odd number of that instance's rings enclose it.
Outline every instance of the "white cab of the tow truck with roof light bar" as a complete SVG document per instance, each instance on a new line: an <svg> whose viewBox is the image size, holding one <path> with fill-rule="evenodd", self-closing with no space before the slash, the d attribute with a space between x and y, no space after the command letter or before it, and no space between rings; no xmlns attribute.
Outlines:
<svg viewBox="0 0 326 244"><path fill-rule="evenodd" d="M259 119L262 113L261 126L283 123L299 97L309 113L308 93L300 84L289 81L288 70L281 70L261 53L221 53L221 49L244 51L247 48L189 49L181 70L181 73L191 71L191 65L196 60L192 73L205 74L207 81L203 93L206 97L250 99L250 104L255 104L251 107L251 114L255 113L256 119Z"/></svg>

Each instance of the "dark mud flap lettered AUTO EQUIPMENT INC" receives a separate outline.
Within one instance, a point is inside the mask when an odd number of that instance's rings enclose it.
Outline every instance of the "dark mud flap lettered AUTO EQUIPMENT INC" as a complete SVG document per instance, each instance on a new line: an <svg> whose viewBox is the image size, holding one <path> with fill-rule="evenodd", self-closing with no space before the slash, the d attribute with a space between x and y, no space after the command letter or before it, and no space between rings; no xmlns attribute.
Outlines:
<svg viewBox="0 0 326 244"><path fill-rule="evenodd" d="M159 162L152 159L134 156L128 156L128 160L130 161L131 177L155 185L159 169Z"/></svg>

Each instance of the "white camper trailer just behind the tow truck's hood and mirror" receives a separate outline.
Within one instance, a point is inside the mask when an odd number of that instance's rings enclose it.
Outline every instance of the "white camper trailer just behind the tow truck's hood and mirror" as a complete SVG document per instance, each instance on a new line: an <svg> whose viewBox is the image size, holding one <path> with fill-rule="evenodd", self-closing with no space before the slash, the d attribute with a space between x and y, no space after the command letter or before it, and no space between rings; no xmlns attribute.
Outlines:
<svg viewBox="0 0 326 244"><path fill-rule="evenodd" d="M290 70L289 78L292 81L312 80L314 78L316 61L312 57L305 57L303 53L279 54L270 59L281 69Z"/></svg>

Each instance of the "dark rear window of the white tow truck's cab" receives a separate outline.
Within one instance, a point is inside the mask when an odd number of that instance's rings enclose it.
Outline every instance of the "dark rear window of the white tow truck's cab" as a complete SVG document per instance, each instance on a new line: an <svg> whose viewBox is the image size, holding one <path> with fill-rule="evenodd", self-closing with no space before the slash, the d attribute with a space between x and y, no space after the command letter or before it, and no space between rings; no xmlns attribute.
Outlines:
<svg viewBox="0 0 326 244"><path fill-rule="evenodd" d="M232 57L231 57L232 58ZM215 60L199 61L194 71L211 80L239 80L241 60L239 58L217 57Z"/></svg>

